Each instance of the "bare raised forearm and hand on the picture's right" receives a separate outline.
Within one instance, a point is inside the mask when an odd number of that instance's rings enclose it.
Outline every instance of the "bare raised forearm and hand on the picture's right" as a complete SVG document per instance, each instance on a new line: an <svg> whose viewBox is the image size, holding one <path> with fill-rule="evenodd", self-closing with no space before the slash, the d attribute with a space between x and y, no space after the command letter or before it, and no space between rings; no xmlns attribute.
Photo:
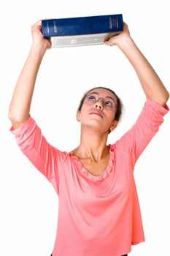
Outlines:
<svg viewBox="0 0 170 256"><path fill-rule="evenodd" d="M128 25L124 23L123 32L104 42L105 45L117 45L131 62L147 98L152 99L158 104L165 106L169 99L169 92L166 90L161 79L137 48L134 40L130 36Z"/></svg>

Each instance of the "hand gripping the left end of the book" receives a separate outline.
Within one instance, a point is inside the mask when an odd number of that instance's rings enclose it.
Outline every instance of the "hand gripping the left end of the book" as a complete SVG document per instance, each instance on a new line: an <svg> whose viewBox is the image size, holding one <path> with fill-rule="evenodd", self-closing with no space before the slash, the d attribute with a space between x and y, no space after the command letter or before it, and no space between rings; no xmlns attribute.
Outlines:
<svg viewBox="0 0 170 256"><path fill-rule="evenodd" d="M51 41L50 38L47 39L42 35L42 20L36 22L33 26L31 26L33 44L38 44L39 46L42 45L46 49L51 48Z"/></svg>

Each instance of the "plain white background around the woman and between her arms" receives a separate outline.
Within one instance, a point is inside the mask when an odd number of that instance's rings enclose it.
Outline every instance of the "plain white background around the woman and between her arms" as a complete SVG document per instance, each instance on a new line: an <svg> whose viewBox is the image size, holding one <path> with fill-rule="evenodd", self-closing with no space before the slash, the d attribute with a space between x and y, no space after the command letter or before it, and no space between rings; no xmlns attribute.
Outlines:
<svg viewBox="0 0 170 256"><path fill-rule="evenodd" d="M48 256L55 242L58 196L21 153L9 132L7 117L15 83L31 46L31 26L42 18L115 13L123 13L136 45L170 91L168 1L15 0L1 4L0 255ZM117 47L47 50L36 80L31 116L53 146L63 151L78 146L80 123L76 110L82 94L93 86L108 86L123 99L123 120L108 138L108 143L114 143L134 124L144 104L144 93L131 64ZM129 255L133 256L170 255L169 114L164 119L136 163L146 241L132 247Z"/></svg>

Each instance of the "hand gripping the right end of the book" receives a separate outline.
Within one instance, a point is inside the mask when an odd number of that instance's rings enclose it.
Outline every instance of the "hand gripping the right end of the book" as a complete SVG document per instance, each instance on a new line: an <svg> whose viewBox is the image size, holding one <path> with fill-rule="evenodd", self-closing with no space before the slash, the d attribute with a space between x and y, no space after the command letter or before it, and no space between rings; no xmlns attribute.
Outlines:
<svg viewBox="0 0 170 256"><path fill-rule="evenodd" d="M116 36L109 38L109 40L104 41L104 45L119 46L120 42L122 42L123 40L125 40L127 38L131 38L131 35L130 35L130 31L128 29L128 25L125 22L123 22L123 31L120 34L117 34Z"/></svg>

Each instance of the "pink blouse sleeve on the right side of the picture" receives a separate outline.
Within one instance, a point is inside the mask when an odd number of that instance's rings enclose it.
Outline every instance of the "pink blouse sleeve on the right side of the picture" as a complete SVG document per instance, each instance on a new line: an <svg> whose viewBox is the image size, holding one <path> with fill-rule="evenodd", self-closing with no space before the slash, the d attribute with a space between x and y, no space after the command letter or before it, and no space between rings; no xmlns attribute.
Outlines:
<svg viewBox="0 0 170 256"><path fill-rule="evenodd" d="M136 123L120 140L117 140L116 146L131 154L136 162L152 137L158 132L163 123L163 116L168 112L167 105L163 108L157 102L147 98Z"/></svg>

